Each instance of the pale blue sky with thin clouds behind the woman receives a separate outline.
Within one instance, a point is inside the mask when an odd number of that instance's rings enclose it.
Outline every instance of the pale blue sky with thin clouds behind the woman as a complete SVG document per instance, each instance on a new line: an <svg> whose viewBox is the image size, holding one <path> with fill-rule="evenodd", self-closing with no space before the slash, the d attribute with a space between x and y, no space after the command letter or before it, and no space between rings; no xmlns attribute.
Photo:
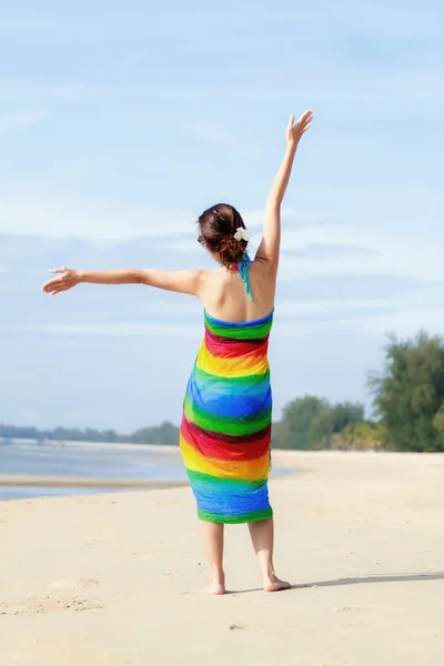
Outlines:
<svg viewBox="0 0 444 666"><path fill-rule="evenodd" d="M199 304L40 293L58 265L209 266L229 201L255 244L290 113L315 123L284 211L275 413L369 404L385 334L443 333L441 0L18 0L0 8L0 422L179 422Z"/></svg>

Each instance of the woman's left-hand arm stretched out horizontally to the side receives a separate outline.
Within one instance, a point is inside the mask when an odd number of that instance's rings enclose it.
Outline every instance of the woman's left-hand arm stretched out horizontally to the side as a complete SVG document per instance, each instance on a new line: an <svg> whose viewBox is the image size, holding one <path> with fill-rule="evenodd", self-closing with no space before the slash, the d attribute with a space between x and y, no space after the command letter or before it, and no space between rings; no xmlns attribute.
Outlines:
<svg viewBox="0 0 444 666"><path fill-rule="evenodd" d="M73 269L53 269L58 273L43 284L42 292L56 295L88 282L91 284L147 284L167 291L199 296L208 271L155 271L141 269L114 269L111 271L74 271Z"/></svg>

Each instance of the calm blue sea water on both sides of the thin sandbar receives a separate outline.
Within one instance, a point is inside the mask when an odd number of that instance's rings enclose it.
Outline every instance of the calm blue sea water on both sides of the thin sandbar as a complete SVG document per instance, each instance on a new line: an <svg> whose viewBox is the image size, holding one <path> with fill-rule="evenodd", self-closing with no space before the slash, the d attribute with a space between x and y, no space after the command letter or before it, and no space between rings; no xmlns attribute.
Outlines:
<svg viewBox="0 0 444 666"><path fill-rule="evenodd" d="M185 481L179 448L164 454L150 446L123 450L117 446L65 444L1 444L0 476L65 476L77 478L119 478L128 481ZM0 486L0 501L49 495L83 495L122 492L127 488Z"/></svg>

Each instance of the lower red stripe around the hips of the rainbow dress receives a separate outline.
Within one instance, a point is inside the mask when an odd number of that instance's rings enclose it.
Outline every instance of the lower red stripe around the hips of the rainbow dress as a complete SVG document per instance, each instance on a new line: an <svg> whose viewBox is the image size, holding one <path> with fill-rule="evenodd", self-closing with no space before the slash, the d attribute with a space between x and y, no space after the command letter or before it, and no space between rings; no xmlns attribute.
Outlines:
<svg viewBox="0 0 444 666"><path fill-rule="evenodd" d="M270 451L271 426L249 436L229 436L210 433L184 416L181 434L185 442L206 458L219 461L255 461Z"/></svg>

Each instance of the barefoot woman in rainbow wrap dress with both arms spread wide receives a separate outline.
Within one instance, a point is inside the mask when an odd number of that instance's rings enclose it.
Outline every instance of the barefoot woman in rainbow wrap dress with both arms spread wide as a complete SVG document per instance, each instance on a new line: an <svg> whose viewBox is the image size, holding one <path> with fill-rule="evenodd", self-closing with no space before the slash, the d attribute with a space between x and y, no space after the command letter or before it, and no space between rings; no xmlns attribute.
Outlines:
<svg viewBox="0 0 444 666"><path fill-rule="evenodd" d="M286 589L273 565L273 514L268 476L271 444L271 387L268 341L273 320L281 240L281 204L294 155L313 119L306 111L290 118L286 151L265 208L254 261L239 212L218 204L199 218L199 242L219 268L214 271L121 269L59 273L42 286L57 294L81 282L142 283L196 296L204 307L205 334L183 403L180 447L196 498L210 565L209 594L225 593L223 529L248 523L266 592Z"/></svg>

